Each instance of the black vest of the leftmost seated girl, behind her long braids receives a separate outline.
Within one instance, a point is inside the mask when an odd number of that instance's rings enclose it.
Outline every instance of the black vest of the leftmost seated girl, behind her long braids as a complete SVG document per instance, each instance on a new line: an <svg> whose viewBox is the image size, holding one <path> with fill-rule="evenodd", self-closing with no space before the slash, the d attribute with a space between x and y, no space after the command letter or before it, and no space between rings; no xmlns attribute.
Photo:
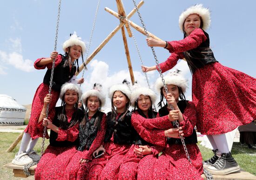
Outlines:
<svg viewBox="0 0 256 180"><path fill-rule="evenodd" d="M56 112L55 112L55 117L54 117L54 120L53 120L53 124L57 127L60 127L60 120L58 119L58 114L61 112L61 110L62 110L62 106L55 108ZM77 110L78 110L78 113L79 113L79 122L81 122L81 119L83 118L84 113L80 109L77 109ZM71 121L66 123L66 127L68 127L70 125L70 123L73 121L73 119L74 119L74 114L73 114L73 117L72 117ZM78 138L74 142L71 142L71 141L56 141L57 138L58 138L58 133L51 130L51 133L50 133L50 145L51 146L56 146L56 147L77 146L78 142L79 142Z"/></svg>

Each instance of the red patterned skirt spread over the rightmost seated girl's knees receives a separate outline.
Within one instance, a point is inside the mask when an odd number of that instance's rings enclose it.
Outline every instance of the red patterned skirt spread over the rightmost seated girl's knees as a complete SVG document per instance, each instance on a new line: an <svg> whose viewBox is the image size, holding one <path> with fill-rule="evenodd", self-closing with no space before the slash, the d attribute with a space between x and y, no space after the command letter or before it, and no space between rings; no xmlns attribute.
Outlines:
<svg viewBox="0 0 256 180"><path fill-rule="evenodd" d="M201 173L184 158L184 152L166 148L158 158L146 155L138 164L138 180L202 180ZM202 158L202 157L201 157ZM202 159L201 159L202 160ZM201 161L202 164L202 161Z"/></svg>

